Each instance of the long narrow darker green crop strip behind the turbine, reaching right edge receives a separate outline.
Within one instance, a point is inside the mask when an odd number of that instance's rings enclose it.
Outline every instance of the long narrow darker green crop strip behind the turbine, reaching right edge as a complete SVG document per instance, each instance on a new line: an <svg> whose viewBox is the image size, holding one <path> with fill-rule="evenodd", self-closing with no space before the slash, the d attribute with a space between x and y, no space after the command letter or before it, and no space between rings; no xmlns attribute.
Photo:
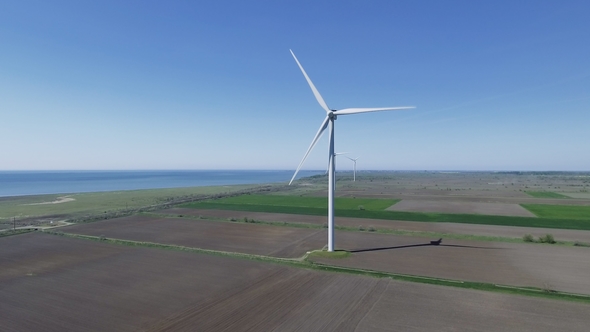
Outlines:
<svg viewBox="0 0 590 332"><path fill-rule="evenodd" d="M262 204L230 204L224 200L203 201L183 204L180 207L194 209L218 209L249 212L270 212L323 216L326 209L317 207L278 206ZM422 213L402 211L373 211L373 210L345 210L337 208L335 214L338 217L366 218L381 220L403 220L420 222L453 222L462 224L520 226L556 229L590 230L590 220L558 219L558 218L531 218L511 216L491 216L477 214L446 214L446 213Z"/></svg>

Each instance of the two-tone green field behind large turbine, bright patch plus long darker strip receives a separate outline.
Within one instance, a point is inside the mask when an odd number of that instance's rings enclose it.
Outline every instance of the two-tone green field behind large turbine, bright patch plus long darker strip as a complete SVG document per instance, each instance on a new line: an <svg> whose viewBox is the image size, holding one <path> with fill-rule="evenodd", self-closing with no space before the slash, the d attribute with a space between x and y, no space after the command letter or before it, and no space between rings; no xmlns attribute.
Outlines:
<svg viewBox="0 0 590 332"><path fill-rule="evenodd" d="M284 201L275 197L281 197L284 199ZM564 216L560 216L559 218L531 218L473 214L385 211L383 208L385 206L390 206L392 202L395 202L395 200L358 198L343 199L343 204L338 204L338 200L335 203L335 214L337 217L590 230L590 218L587 220L582 220L582 218L566 218ZM312 202L313 200L317 200L317 202L314 203ZM364 202L365 210L359 210L358 205L350 203L351 200L355 202ZM325 201L326 199L323 197L243 195L238 197L188 203L183 204L182 207L324 216L326 215L326 207L322 204L324 204ZM278 205L277 202L290 203L282 203L289 205ZM306 202L307 206L298 206L297 204L300 202Z"/></svg>

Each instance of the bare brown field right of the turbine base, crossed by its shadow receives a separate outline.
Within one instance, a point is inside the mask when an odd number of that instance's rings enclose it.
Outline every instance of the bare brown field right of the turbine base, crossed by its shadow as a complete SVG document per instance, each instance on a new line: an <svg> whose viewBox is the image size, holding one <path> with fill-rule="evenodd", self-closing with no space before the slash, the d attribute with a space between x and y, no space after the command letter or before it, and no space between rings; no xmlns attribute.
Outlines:
<svg viewBox="0 0 590 332"><path fill-rule="evenodd" d="M389 234L336 232L336 248L346 259L314 261L368 270L549 288L590 295L588 248L525 243L494 243Z"/></svg>

